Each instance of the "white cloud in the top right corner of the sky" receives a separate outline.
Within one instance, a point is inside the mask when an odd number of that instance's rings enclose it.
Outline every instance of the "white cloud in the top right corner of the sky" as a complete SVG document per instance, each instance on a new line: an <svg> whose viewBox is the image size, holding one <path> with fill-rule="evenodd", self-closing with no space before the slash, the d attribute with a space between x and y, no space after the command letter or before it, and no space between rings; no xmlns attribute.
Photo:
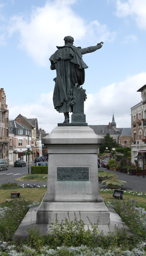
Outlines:
<svg viewBox="0 0 146 256"><path fill-rule="evenodd" d="M118 17L133 16L140 29L146 29L145 0L116 0L116 15Z"/></svg>

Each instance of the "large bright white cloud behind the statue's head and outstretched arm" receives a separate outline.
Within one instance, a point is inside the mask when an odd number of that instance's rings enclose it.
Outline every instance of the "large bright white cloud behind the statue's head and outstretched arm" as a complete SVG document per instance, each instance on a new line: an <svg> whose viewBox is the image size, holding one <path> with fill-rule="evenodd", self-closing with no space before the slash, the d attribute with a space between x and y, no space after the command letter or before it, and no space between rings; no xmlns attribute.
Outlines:
<svg viewBox="0 0 146 256"><path fill-rule="evenodd" d="M97 20L87 24L71 9L75 0L47 1L44 7L34 8L30 17L13 16L9 33L20 34L19 48L25 50L40 66L48 66L48 58L57 50L56 45L64 44L64 36L71 35L75 41L113 41L115 32ZM94 40L95 43L95 40ZM76 45L76 42L75 42Z"/></svg>

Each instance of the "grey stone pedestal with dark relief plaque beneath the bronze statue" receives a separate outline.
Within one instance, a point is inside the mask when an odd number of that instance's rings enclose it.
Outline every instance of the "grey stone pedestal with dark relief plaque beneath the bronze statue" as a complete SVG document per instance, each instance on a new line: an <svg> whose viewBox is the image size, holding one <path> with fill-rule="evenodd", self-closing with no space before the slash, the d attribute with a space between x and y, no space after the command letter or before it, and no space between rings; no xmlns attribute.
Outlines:
<svg viewBox="0 0 146 256"><path fill-rule="evenodd" d="M98 147L104 139L88 126L56 127L42 139L47 146L48 184L38 211L37 224L68 218L85 224L110 223L109 211L98 189ZM87 218L88 216L88 218Z"/></svg>

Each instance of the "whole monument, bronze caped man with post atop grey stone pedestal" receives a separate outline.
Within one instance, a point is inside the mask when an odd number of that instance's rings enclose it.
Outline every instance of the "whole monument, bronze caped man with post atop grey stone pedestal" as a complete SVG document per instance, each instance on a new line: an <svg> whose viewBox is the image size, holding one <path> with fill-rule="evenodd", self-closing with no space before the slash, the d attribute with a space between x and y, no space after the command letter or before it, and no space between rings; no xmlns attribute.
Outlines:
<svg viewBox="0 0 146 256"><path fill-rule="evenodd" d="M82 54L100 49L96 46L81 49L73 46L71 36L64 38L65 45L57 46L50 57L51 69L56 69L57 77L53 93L53 104L65 120L58 123L51 134L42 139L47 146L48 184L47 193L37 211L37 224L49 225L56 220L81 219L85 224L109 224L109 211L99 194L98 188L98 148L104 138L96 135L86 123L84 101L85 68ZM69 123L69 112L72 112ZM88 216L88 218L87 218ZM44 229L45 230L45 229Z"/></svg>

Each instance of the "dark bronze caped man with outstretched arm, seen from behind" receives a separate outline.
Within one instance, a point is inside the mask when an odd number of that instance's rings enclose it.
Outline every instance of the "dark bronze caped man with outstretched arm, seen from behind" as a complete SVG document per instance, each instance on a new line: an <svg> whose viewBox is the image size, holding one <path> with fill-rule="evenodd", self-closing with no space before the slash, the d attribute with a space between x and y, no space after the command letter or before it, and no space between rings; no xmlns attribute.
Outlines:
<svg viewBox="0 0 146 256"><path fill-rule="evenodd" d="M103 42L95 46L81 49L73 45L74 38L65 36L64 46L56 46L57 51L50 57L51 70L56 69L57 77L53 93L54 108L59 113L64 113L64 123L69 123L69 112L72 112L72 105L69 101L70 90L76 84L83 85L85 81L85 68L88 68L82 60L82 54L94 52L100 49Z"/></svg>

